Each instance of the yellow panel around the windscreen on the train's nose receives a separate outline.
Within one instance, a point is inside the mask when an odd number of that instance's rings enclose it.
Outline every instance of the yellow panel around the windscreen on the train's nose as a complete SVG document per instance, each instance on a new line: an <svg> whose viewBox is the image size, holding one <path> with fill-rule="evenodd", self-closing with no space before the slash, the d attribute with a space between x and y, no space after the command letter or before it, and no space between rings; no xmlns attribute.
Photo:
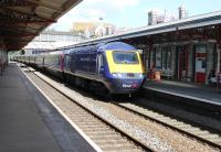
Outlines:
<svg viewBox="0 0 221 152"><path fill-rule="evenodd" d="M136 51L135 51L136 52ZM113 58L113 51L106 51L106 58L110 73L144 73L141 58L138 52L139 64L116 64Z"/></svg>

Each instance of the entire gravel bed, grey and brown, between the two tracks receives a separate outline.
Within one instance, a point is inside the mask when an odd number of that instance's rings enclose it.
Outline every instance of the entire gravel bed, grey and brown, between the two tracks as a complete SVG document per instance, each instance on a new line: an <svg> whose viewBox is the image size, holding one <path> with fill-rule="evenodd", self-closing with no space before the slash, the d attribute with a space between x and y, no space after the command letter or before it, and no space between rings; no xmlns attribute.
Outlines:
<svg viewBox="0 0 221 152"><path fill-rule="evenodd" d="M124 132L127 132L129 135L138 139L140 142L156 151L217 151L215 149L202 144L194 139L190 139L171 129L141 119L140 117L122 110L116 106L84 97L81 94L66 88L62 84L43 76L42 74L38 73L38 75L52 84L55 88L59 88L65 95L70 96L75 101L88 108L94 113L101 116L106 121L110 122L115 127L119 128Z"/></svg>

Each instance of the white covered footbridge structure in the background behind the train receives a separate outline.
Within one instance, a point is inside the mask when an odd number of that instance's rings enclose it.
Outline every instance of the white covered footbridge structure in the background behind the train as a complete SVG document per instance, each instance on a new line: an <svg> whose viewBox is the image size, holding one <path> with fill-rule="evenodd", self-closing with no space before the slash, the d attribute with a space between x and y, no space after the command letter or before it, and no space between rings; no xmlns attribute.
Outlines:
<svg viewBox="0 0 221 152"><path fill-rule="evenodd" d="M83 34L75 32L44 31L24 46L25 54L39 54L53 48L73 45L87 40Z"/></svg>

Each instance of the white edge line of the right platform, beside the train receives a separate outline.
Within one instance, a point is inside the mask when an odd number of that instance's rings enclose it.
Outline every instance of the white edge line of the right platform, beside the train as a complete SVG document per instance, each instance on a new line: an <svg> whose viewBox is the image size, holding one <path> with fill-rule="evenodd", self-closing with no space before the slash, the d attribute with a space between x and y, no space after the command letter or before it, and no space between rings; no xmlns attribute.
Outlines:
<svg viewBox="0 0 221 152"><path fill-rule="evenodd" d="M189 98L189 99L193 99L193 100L199 100L199 101L207 102L207 104L213 104L213 105L217 105L217 106L221 106L221 102L212 101L212 100L208 100L208 99L203 99L203 98L192 97L192 96L182 95L182 94L179 94L179 93L172 93L172 91L168 91L168 90L161 90L161 89L151 88L151 87L147 87L147 86L145 86L144 88L165 93L165 94L169 94L169 95L173 95L173 96L180 96L180 97Z"/></svg>

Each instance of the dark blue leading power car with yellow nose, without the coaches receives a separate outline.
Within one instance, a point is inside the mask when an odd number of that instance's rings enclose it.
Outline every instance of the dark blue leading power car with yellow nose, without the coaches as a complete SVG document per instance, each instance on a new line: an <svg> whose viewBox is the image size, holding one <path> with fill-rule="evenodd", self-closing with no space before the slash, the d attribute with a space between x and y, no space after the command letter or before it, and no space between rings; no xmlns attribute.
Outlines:
<svg viewBox="0 0 221 152"><path fill-rule="evenodd" d="M87 79L86 83L77 79L78 85L90 83L93 88L103 85L110 94L130 94L141 86L144 73L139 52L126 43L113 42L71 52L71 74Z"/></svg>

